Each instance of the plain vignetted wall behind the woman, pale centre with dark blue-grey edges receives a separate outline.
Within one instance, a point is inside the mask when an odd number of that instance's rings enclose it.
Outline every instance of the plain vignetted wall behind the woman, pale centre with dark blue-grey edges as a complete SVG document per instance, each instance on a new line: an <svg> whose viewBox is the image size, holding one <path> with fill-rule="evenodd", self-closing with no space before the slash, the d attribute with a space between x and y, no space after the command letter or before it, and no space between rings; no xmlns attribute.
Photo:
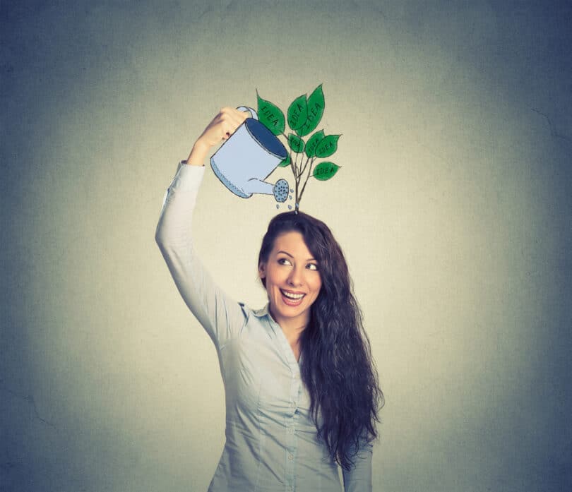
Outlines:
<svg viewBox="0 0 572 492"><path fill-rule="evenodd" d="M570 5L2 1L0 490L205 491L222 383L162 196L219 107L319 83L342 169L302 209L379 366L374 491L569 490ZM198 248L262 306L275 205L207 171Z"/></svg>

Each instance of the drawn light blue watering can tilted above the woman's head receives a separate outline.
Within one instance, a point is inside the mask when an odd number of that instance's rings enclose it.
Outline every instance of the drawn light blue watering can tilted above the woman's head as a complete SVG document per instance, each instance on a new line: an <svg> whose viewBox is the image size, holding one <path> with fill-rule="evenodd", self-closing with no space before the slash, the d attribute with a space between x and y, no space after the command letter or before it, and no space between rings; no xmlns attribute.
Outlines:
<svg viewBox="0 0 572 492"><path fill-rule="evenodd" d="M253 117L246 118L210 157L210 167L222 184L241 198L261 193L273 195L278 202L285 202L290 191L288 181L278 179L275 184L264 181L286 158L285 146L258 121L254 109L246 106L237 109L249 111Z"/></svg>

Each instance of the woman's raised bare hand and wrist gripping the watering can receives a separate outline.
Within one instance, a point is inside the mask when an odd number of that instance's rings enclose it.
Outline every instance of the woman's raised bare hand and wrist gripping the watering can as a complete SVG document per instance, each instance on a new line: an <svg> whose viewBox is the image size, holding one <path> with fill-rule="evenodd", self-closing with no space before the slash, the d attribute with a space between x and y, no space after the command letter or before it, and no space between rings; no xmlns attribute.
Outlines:
<svg viewBox="0 0 572 492"><path fill-rule="evenodd" d="M187 164L202 166L205 156L210 148L218 145L221 141L227 140L234 131L248 118L248 112L242 112L233 107L223 107L220 112L213 118L205 131L193 145L193 150L186 160Z"/></svg>

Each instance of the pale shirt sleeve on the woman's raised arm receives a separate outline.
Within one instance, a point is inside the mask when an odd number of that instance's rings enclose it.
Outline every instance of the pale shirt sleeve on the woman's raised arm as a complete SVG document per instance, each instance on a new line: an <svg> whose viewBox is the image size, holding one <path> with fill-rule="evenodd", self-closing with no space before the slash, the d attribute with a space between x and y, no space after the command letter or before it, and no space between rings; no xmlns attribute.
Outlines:
<svg viewBox="0 0 572 492"><path fill-rule="evenodd" d="M155 241L186 305L220 349L237 335L245 318L242 305L213 282L193 247L193 208L204 172L203 166L179 163L163 200Z"/></svg>

